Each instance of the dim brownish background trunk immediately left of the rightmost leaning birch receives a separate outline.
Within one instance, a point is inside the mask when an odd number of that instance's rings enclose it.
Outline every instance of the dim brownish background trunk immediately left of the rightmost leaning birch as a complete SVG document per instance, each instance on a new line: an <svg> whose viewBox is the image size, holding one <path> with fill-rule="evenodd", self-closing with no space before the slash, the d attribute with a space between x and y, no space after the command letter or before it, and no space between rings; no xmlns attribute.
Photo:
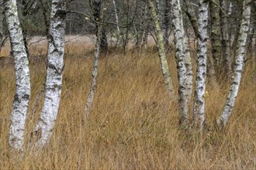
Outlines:
<svg viewBox="0 0 256 170"><path fill-rule="evenodd" d="M223 8L224 12L228 12L227 0L221 0L220 6ZM222 46L223 46L223 73L226 79L229 80L231 73L231 59L230 59L230 34L227 16L220 12L220 30L222 36Z"/></svg>

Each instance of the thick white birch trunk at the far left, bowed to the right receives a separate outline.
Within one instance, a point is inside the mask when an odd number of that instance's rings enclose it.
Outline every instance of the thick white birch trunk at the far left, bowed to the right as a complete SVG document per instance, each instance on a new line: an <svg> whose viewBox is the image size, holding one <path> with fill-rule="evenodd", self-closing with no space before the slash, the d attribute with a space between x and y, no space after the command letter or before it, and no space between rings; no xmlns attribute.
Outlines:
<svg viewBox="0 0 256 170"><path fill-rule="evenodd" d="M9 27L9 37L16 73L16 92L9 129L9 145L10 148L22 150L24 146L26 113L29 106L30 79L29 60L26 56L16 0L5 1L5 15Z"/></svg>

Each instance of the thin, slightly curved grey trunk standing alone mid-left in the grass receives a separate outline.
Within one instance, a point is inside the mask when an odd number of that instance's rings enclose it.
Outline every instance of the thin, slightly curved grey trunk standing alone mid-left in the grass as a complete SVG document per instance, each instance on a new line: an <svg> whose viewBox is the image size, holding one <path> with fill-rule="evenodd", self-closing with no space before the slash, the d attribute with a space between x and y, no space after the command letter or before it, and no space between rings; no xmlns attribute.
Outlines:
<svg viewBox="0 0 256 170"><path fill-rule="evenodd" d="M98 63L99 63L99 51L100 51L100 37L102 32L102 26L98 27L97 39L95 42L95 54L94 54L94 65L92 70L92 86L88 95L87 103L85 105L85 117L88 117L90 106L97 88L97 76L98 76Z"/></svg>

